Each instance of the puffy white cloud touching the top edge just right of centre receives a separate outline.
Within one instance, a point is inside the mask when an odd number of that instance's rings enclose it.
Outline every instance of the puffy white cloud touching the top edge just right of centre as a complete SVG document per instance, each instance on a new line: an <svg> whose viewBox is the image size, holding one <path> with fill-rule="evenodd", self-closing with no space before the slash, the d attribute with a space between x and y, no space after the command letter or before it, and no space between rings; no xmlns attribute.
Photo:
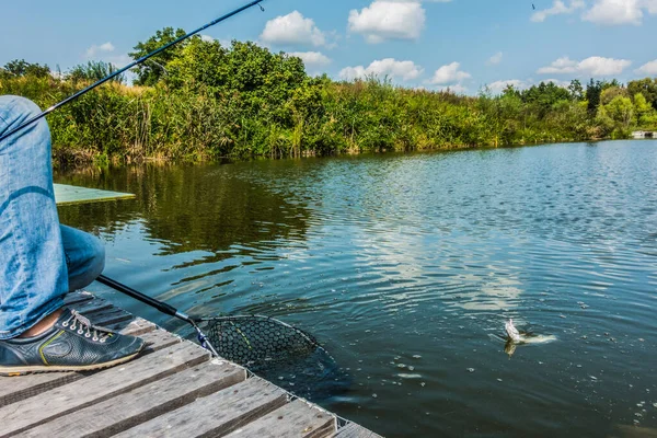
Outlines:
<svg viewBox="0 0 657 438"><path fill-rule="evenodd" d="M349 31L362 34L370 44L385 39L417 39L426 21L419 1L374 0L360 12L349 12Z"/></svg>

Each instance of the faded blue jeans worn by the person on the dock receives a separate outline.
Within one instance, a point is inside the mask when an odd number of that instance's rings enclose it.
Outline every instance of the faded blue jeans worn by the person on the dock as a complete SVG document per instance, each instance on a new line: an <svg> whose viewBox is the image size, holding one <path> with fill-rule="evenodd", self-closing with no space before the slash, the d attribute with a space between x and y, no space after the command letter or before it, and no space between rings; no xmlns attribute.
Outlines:
<svg viewBox="0 0 657 438"><path fill-rule="evenodd" d="M41 111L0 95L0 136ZM42 119L0 142L0 339L21 335L93 281L105 252L93 235L60 226L50 131Z"/></svg>

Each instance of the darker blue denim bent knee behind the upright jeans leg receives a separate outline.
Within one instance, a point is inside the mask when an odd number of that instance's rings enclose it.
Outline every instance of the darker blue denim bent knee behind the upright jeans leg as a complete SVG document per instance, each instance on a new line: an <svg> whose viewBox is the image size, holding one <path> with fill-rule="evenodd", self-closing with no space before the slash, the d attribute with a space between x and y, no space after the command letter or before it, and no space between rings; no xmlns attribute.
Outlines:
<svg viewBox="0 0 657 438"><path fill-rule="evenodd" d="M101 241L67 226L61 226L64 253L68 267L70 291L82 289L95 280L105 268L105 247Z"/></svg>

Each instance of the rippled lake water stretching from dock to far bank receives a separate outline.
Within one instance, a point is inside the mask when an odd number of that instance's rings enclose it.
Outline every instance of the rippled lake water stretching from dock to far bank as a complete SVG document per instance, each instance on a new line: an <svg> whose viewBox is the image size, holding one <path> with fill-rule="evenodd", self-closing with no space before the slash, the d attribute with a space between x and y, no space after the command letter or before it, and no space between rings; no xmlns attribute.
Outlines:
<svg viewBox="0 0 657 438"><path fill-rule="evenodd" d="M382 435L657 428L657 141L90 168L56 182L137 194L60 209L105 241L107 275L187 313L308 330L351 378L321 404ZM509 356L509 318L556 341Z"/></svg>

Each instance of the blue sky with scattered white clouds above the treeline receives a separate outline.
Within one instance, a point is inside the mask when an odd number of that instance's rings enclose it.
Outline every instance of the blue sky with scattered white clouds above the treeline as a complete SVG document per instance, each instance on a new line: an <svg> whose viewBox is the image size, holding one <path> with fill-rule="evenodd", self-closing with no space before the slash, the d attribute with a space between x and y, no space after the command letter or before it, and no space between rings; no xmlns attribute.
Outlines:
<svg viewBox="0 0 657 438"><path fill-rule="evenodd" d="M532 8L535 5L535 10ZM0 65L66 71L89 59L125 64L164 26L186 31L241 1L7 2ZM311 73L476 93L511 81L657 76L657 0L267 0L205 32L298 54Z"/></svg>

